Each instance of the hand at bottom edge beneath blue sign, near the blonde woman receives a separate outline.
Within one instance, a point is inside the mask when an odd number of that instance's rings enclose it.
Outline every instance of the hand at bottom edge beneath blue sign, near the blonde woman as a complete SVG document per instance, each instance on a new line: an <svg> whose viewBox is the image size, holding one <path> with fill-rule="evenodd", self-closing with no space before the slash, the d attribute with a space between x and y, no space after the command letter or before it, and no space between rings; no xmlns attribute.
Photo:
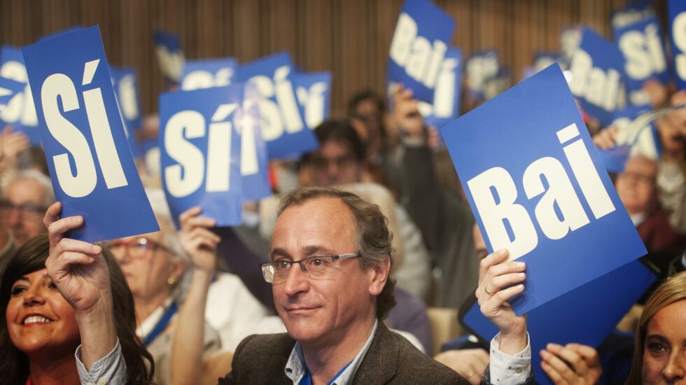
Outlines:
<svg viewBox="0 0 686 385"><path fill-rule="evenodd" d="M582 344L547 344L540 366L555 384L597 384L603 374L598 352Z"/></svg>

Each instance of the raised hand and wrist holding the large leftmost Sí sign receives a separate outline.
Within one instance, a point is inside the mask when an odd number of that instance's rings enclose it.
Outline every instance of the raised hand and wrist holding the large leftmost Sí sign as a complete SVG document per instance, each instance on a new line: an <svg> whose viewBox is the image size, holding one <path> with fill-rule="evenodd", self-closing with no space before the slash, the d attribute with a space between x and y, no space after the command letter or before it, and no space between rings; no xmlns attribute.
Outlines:
<svg viewBox="0 0 686 385"><path fill-rule="evenodd" d="M100 246L69 239L64 233L83 225L83 217L59 218L62 204L48 207L43 223L48 228L50 255L45 260L48 276L77 317L97 311L111 311L112 295L107 263Z"/></svg>

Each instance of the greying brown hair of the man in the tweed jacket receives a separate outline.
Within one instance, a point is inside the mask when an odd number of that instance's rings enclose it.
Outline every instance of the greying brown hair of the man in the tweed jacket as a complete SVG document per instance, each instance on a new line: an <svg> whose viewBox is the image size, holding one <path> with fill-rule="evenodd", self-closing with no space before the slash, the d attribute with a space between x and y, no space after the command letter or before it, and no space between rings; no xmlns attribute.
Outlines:
<svg viewBox="0 0 686 385"><path fill-rule="evenodd" d="M353 193L333 188L297 188L281 198L277 216L281 216L288 207L300 206L309 200L325 197L341 200L355 217L360 267L370 269L384 262L386 258L393 263L393 234L388 231L388 220L376 204L366 202ZM377 296L377 318L386 318L388 311L395 306L394 289L395 281L389 277L381 294Z"/></svg>

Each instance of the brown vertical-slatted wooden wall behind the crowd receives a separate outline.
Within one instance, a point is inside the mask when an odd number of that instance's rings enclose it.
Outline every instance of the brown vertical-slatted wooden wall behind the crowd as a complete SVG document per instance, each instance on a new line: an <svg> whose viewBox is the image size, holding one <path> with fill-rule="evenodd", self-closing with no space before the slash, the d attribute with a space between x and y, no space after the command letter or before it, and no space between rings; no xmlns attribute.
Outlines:
<svg viewBox="0 0 686 385"><path fill-rule="evenodd" d="M627 0L434 0L457 20L465 57L497 48L515 80L538 50L558 50L567 25L610 37L610 14ZM664 0L654 0L664 20ZM332 107L344 113L359 90L384 92L388 47L403 0L0 0L0 42L21 46L74 25L99 24L109 61L133 66L144 111L157 110L163 82L153 31L181 36L189 59L248 62L289 50L307 71L330 70Z"/></svg>

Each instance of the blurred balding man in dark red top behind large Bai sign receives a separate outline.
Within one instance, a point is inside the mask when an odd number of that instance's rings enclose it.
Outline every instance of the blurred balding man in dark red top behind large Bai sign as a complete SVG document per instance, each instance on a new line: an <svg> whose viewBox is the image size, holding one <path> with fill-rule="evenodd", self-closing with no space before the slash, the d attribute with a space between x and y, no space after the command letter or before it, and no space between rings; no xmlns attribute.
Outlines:
<svg viewBox="0 0 686 385"><path fill-rule="evenodd" d="M636 231L649 256L661 271L665 271L674 255L684 250L684 239L669 223L669 214L659 207L657 162L637 155L626 161L624 171L617 174L615 186Z"/></svg>

